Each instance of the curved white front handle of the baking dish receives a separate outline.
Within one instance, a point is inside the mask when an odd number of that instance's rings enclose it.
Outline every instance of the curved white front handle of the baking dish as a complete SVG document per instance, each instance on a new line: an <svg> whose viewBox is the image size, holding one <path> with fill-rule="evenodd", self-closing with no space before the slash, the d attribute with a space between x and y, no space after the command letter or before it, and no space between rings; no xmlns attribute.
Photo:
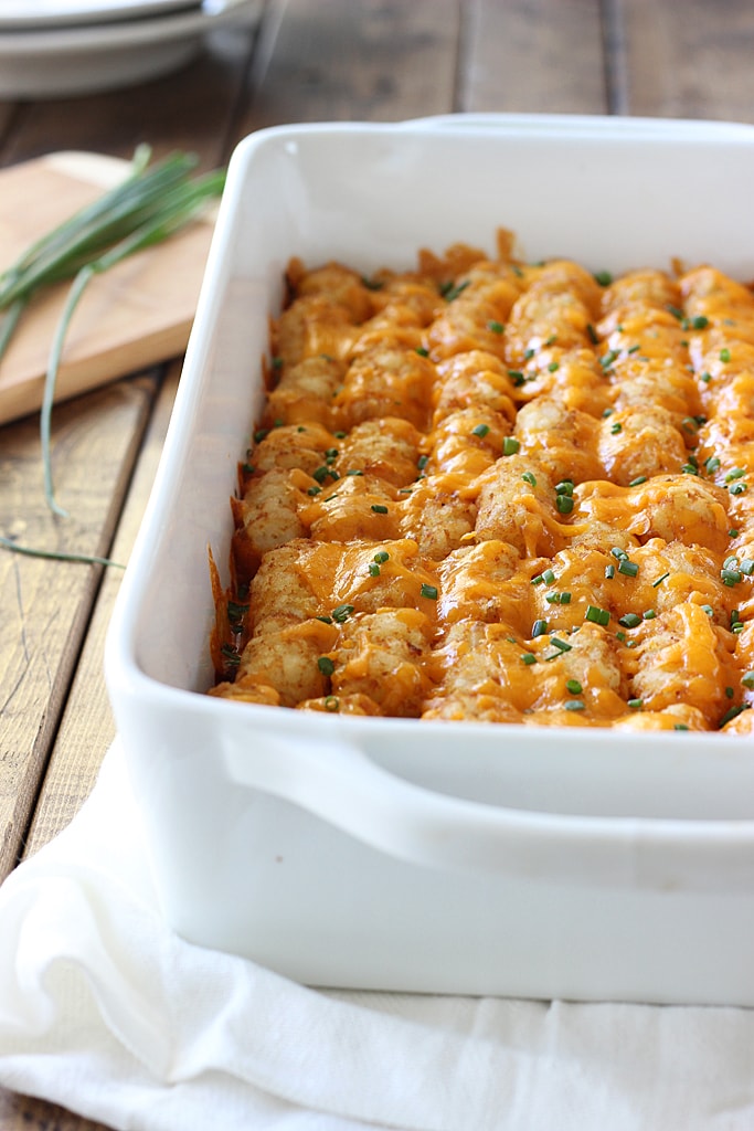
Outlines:
<svg viewBox="0 0 754 1131"><path fill-rule="evenodd" d="M751 892L754 886L752 821L506 809L417 786L355 746L310 740L228 742L225 766L234 783L298 805L379 852L422 866L666 892Z"/></svg>

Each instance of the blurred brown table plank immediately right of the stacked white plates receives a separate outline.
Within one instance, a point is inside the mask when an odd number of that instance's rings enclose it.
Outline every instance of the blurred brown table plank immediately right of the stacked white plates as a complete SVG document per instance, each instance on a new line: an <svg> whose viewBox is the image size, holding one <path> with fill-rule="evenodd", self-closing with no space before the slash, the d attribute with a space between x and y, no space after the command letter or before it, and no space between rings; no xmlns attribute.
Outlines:
<svg viewBox="0 0 754 1131"><path fill-rule="evenodd" d="M449 113L459 19L459 0L272 0L236 139L281 122Z"/></svg>

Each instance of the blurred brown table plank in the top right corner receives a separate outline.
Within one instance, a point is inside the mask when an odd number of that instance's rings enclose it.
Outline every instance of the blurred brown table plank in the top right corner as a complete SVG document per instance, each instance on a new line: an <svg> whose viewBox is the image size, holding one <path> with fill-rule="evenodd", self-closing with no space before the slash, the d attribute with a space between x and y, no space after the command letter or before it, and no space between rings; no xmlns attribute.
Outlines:
<svg viewBox="0 0 754 1131"><path fill-rule="evenodd" d="M754 121L749 0L608 0L615 113Z"/></svg>

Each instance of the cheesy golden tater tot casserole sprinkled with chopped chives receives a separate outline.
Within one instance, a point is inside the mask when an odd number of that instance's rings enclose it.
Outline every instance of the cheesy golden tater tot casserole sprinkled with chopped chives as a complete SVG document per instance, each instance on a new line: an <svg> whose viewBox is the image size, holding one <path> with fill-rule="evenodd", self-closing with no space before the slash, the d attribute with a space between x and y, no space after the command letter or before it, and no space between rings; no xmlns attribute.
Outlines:
<svg viewBox="0 0 754 1131"><path fill-rule="evenodd" d="M289 265L210 693L751 734L754 296L510 249Z"/></svg>

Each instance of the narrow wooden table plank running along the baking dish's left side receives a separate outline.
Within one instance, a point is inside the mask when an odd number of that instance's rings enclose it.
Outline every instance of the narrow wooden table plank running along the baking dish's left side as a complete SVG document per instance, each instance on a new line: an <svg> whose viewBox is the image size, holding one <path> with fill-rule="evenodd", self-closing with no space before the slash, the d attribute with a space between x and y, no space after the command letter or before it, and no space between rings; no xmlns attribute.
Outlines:
<svg viewBox="0 0 754 1131"><path fill-rule="evenodd" d="M139 454L112 556L127 562L151 490L181 373L174 362L159 390ZM109 569L99 588L60 731L42 784L24 855L31 856L71 821L94 786L115 727L103 675L107 625L122 573Z"/></svg>

